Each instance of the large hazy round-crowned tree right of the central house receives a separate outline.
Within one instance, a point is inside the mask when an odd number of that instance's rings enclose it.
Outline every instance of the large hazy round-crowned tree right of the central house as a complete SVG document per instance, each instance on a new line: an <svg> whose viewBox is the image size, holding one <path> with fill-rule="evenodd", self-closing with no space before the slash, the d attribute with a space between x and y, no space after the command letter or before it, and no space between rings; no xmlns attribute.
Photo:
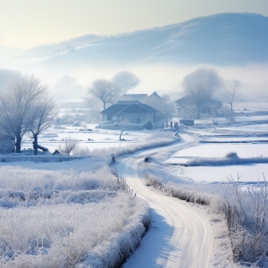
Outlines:
<svg viewBox="0 0 268 268"><path fill-rule="evenodd" d="M214 93L222 88L222 79L213 68L198 68L189 73L182 81L182 88L197 108L197 119L200 119L201 108L212 99Z"/></svg>

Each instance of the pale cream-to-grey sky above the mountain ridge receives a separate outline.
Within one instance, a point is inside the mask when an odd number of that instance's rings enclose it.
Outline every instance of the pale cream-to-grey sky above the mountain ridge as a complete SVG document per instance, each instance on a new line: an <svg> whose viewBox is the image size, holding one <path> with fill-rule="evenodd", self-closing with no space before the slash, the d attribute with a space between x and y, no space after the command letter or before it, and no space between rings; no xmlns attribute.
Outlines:
<svg viewBox="0 0 268 268"><path fill-rule="evenodd" d="M268 0L0 0L0 46L29 48L215 13L268 16Z"/></svg>

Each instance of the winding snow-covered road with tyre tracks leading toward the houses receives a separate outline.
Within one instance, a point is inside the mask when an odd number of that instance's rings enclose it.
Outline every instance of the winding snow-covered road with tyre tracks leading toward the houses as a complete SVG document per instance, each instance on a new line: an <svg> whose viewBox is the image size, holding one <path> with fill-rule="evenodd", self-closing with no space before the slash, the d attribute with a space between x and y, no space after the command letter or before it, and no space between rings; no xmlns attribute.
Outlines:
<svg viewBox="0 0 268 268"><path fill-rule="evenodd" d="M152 218L151 229L124 268L213 267L214 232L209 220L188 203L148 188L138 173L138 165L146 155L160 150L179 150L194 142L186 134L182 138L182 143L119 159L119 175L138 197L147 200Z"/></svg>

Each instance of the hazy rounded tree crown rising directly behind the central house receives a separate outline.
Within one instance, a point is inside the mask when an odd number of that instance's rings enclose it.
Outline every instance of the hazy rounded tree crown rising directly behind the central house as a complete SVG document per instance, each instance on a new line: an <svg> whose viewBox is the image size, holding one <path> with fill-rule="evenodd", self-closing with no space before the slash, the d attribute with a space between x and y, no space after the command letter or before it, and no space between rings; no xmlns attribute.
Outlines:
<svg viewBox="0 0 268 268"><path fill-rule="evenodd" d="M113 83L118 85L122 92L126 93L132 88L136 88L140 83L139 78L131 71L119 71L113 78Z"/></svg>

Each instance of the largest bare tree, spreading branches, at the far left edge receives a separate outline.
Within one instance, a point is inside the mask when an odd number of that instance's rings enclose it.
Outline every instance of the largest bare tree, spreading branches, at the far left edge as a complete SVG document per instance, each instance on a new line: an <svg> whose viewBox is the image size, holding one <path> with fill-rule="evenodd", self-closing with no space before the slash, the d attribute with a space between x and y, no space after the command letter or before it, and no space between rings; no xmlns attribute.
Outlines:
<svg viewBox="0 0 268 268"><path fill-rule="evenodd" d="M46 90L33 75L20 75L0 98L0 126L15 138L16 153L21 153L21 138L29 130L31 105L46 96Z"/></svg>

